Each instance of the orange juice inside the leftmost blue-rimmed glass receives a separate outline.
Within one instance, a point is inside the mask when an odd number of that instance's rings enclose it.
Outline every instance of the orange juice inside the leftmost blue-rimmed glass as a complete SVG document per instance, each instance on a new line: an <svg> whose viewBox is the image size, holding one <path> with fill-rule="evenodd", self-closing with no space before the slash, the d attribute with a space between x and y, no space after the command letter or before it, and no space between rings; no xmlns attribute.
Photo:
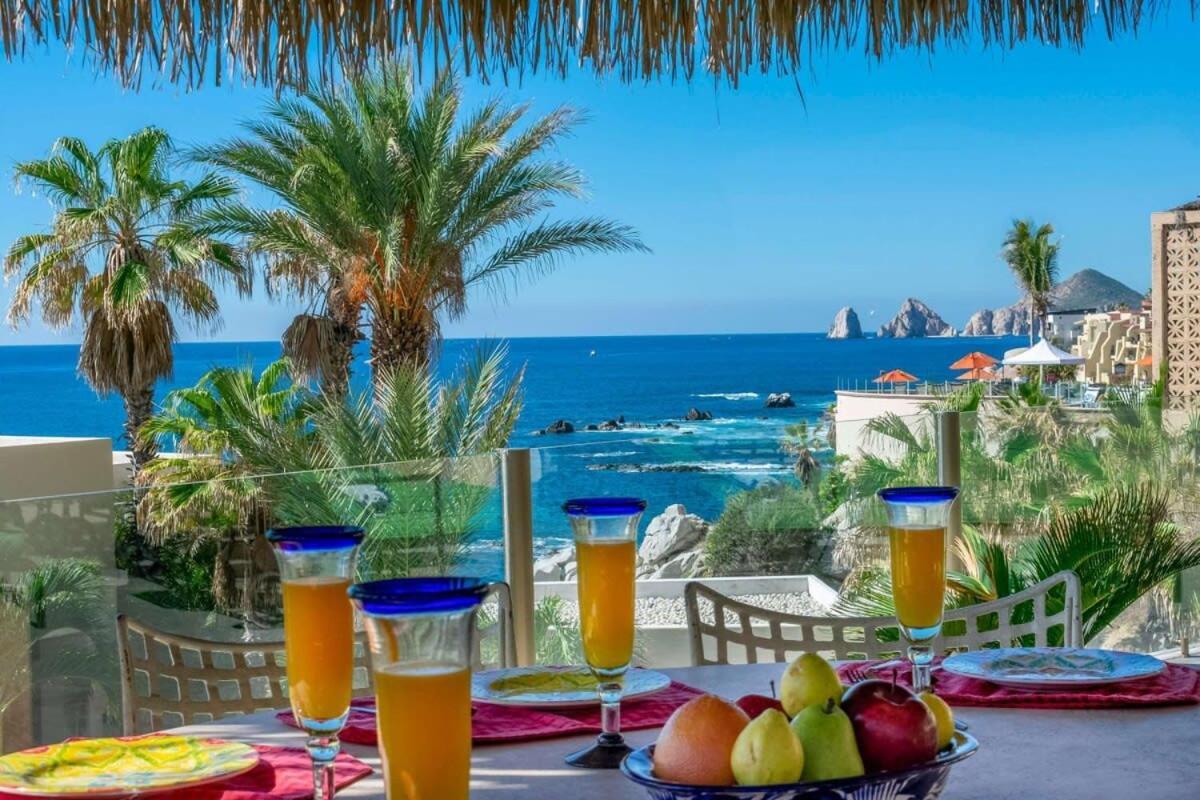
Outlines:
<svg viewBox="0 0 1200 800"><path fill-rule="evenodd" d="M283 582L283 644L292 709L310 720L336 720L350 706L354 609L338 577Z"/></svg>

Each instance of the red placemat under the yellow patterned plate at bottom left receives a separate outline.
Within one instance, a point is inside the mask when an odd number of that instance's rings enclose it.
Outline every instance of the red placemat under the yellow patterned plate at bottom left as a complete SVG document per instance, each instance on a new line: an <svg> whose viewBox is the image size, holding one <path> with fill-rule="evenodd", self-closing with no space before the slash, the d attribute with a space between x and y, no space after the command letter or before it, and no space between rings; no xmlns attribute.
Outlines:
<svg viewBox="0 0 1200 800"><path fill-rule="evenodd" d="M164 789L148 792L146 798L172 800L307 800L312 796L312 759L299 747L256 745L259 762L254 769L227 781L194 789ZM371 768L349 753L340 753L334 762L337 788L344 789L371 775ZM0 792L0 800L28 800Z"/></svg>

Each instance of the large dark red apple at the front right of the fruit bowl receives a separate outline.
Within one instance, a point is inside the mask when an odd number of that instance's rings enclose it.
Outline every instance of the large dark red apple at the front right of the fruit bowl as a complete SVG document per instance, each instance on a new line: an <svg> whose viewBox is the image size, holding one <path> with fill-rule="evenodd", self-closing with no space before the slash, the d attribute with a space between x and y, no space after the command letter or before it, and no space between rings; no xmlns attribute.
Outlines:
<svg viewBox="0 0 1200 800"><path fill-rule="evenodd" d="M916 694L886 680L854 684L841 698L868 772L902 770L937 756L937 721Z"/></svg>

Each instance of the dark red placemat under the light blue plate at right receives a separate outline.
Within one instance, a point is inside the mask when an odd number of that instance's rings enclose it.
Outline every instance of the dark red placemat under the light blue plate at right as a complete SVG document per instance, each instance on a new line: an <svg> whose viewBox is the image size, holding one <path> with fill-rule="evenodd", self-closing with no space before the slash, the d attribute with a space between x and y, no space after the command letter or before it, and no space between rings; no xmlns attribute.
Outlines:
<svg viewBox="0 0 1200 800"><path fill-rule="evenodd" d="M841 664L838 667L838 674L846 679L848 672L860 670L865 663L882 662ZM898 682L911 686L907 664L896 667L894 670L882 669L876 673L876 676L892 680L893 672L895 672ZM1008 709L1116 709L1141 705L1189 705L1200 703L1200 672L1178 664L1166 664L1166 668L1153 678L1090 688L1031 691L1000 686L974 678L964 678L938 669L934 672L934 691L950 705Z"/></svg>

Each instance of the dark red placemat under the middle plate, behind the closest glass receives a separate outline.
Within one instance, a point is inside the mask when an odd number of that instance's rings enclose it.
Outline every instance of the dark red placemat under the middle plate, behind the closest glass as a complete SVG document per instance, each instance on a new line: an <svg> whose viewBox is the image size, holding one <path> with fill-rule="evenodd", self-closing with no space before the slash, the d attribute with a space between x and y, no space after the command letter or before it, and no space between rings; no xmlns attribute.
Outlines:
<svg viewBox="0 0 1200 800"><path fill-rule="evenodd" d="M661 727L671 714L694 697L703 694L698 688L672 682L668 687L637 700L620 704L622 730L642 730ZM600 733L600 708L557 709L544 711L515 705L491 705L473 703L470 720L472 741L476 745L528 741ZM295 727L290 711L281 711L278 718ZM355 745L376 745L374 700L355 700L350 717L342 729L342 741Z"/></svg>

